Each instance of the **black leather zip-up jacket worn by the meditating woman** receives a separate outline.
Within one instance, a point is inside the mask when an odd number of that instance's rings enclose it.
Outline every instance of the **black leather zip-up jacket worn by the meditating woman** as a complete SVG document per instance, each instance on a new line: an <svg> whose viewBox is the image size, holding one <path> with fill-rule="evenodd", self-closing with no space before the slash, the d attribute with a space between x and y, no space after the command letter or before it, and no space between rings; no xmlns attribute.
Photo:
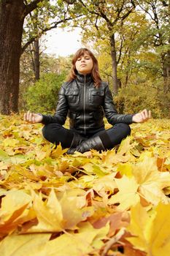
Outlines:
<svg viewBox="0 0 170 256"><path fill-rule="evenodd" d="M133 115L117 114L107 83L101 82L101 86L96 88L90 75L78 74L72 82L63 83L55 115L42 115L42 123L63 125L69 116L70 128L81 135L88 135L104 129L104 115L112 125L132 123Z"/></svg>

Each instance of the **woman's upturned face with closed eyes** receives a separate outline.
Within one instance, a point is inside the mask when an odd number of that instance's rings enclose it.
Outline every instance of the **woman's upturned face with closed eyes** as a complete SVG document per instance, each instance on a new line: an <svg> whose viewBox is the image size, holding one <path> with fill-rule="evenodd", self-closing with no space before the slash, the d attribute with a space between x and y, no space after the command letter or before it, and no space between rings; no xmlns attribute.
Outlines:
<svg viewBox="0 0 170 256"><path fill-rule="evenodd" d="M75 66L80 74L87 75L93 69L93 59L88 53L85 53L77 59Z"/></svg>

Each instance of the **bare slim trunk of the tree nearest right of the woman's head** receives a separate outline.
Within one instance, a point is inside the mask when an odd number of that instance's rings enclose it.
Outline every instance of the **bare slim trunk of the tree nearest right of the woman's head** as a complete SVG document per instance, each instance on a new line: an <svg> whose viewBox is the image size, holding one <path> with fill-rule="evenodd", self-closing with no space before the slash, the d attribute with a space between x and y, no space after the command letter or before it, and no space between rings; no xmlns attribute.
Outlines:
<svg viewBox="0 0 170 256"><path fill-rule="evenodd" d="M112 58L113 93L117 94L118 83L117 83L117 59L116 59L116 48L115 48L115 34L112 34L112 36L110 37L110 45L111 45L111 58Z"/></svg>

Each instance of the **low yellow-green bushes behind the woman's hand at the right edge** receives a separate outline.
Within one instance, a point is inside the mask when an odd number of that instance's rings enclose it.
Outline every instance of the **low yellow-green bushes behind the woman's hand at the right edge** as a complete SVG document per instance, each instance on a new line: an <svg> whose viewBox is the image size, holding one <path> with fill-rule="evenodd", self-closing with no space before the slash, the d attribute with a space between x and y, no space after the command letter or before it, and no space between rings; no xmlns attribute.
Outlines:
<svg viewBox="0 0 170 256"><path fill-rule="evenodd" d="M159 82L160 83L160 82ZM139 83L122 88L114 97L119 113L137 113L143 109L151 110L153 118L169 116L170 95L164 94L162 83Z"/></svg>

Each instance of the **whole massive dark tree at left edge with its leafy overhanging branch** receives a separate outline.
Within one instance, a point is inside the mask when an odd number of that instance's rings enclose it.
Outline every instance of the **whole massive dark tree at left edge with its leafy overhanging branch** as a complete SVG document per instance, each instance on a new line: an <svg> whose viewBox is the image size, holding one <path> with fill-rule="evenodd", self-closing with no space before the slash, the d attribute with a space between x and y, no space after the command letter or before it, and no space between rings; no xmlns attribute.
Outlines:
<svg viewBox="0 0 170 256"><path fill-rule="evenodd" d="M71 4L74 8L74 5ZM23 37L23 24L26 17L39 8L46 15L52 13L50 25L45 23L40 34L58 26L59 23L72 20L76 17L76 10L71 10L64 1L56 1L55 5L48 0L1 0L0 1L0 113L9 114L18 112L20 55L31 42L37 39L37 34L32 34L21 47ZM69 16L70 11L70 16ZM54 21L55 17L57 20ZM27 34L28 31L26 31Z"/></svg>

